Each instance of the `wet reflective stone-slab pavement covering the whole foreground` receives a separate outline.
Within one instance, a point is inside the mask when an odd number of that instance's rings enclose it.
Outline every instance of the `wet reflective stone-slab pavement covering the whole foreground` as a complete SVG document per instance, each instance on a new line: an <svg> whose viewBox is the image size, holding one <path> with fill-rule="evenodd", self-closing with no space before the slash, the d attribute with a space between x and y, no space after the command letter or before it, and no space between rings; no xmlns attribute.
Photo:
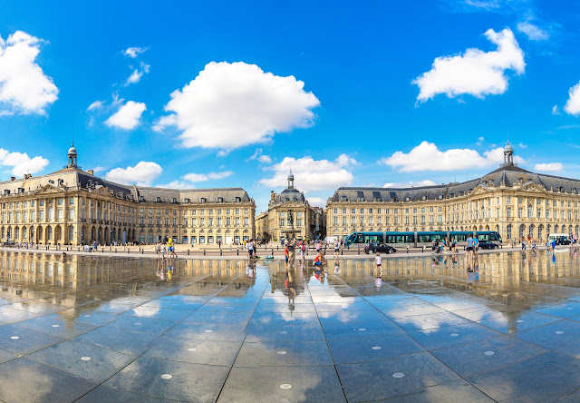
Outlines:
<svg viewBox="0 0 580 403"><path fill-rule="evenodd" d="M328 260L0 253L0 400L580 400L574 250Z"/></svg>

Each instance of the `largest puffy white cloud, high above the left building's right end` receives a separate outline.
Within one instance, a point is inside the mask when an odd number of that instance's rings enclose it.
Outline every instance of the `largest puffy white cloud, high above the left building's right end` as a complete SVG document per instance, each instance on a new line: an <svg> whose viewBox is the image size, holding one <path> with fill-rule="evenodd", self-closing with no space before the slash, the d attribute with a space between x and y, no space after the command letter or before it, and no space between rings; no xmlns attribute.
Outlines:
<svg viewBox="0 0 580 403"><path fill-rule="evenodd" d="M171 93L154 129L175 126L184 147L232 150L263 143L275 133L314 124L314 93L294 76L265 73L256 64L211 62Z"/></svg>

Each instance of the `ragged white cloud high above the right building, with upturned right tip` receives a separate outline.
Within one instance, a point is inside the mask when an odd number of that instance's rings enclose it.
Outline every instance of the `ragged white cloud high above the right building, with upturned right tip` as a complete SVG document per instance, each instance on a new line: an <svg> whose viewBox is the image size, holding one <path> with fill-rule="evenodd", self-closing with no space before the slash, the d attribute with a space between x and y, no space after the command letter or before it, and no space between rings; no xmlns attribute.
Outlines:
<svg viewBox="0 0 580 403"><path fill-rule="evenodd" d="M445 93L449 98L465 93L478 98L505 93L505 71L515 70L517 74L523 74L526 67L524 52L509 28L499 33L488 29L485 35L492 44L498 45L498 50L483 52L471 48L465 54L436 58L431 70L412 82L420 88L417 100L425 102L439 93Z"/></svg>

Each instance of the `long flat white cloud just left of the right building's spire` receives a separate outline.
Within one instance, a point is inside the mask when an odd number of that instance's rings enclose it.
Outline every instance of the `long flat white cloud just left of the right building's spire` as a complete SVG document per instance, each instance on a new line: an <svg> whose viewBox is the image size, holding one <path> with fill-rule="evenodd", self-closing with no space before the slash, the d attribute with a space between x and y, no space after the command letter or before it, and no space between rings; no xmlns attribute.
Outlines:
<svg viewBox="0 0 580 403"><path fill-rule="evenodd" d="M437 145L429 142L422 142L411 152L394 152L388 158L380 161L400 172L416 171L458 171L467 168L485 168L497 165L504 161L504 149L498 147L483 155L470 149L450 149L440 151ZM514 162L522 163L524 160L517 155Z"/></svg>

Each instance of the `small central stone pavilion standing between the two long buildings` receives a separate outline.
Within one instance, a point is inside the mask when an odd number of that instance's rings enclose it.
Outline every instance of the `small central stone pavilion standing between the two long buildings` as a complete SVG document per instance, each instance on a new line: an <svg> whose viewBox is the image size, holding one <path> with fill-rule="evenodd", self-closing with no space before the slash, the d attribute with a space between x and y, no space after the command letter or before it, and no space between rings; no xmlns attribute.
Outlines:
<svg viewBox="0 0 580 403"><path fill-rule="evenodd" d="M295 189L294 175L288 175L288 186L280 194L270 192L268 211L258 215L261 238L265 241L284 239L314 240L324 234L321 209L313 208L304 193Z"/></svg>

